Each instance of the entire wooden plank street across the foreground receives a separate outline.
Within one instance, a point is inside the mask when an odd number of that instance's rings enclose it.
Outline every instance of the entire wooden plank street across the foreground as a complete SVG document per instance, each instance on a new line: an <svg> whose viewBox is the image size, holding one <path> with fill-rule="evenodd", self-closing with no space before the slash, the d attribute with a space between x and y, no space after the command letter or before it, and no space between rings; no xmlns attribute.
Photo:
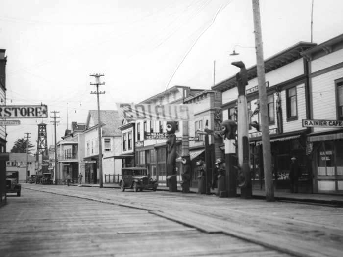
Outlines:
<svg viewBox="0 0 343 257"><path fill-rule="evenodd" d="M24 248L25 256L84 256L84 249L91 256L341 256L343 252L342 208L163 191L35 184L23 188L31 190L23 189L20 198L9 197L10 204L0 209L1 217L6 217L0 221L0 235L5 238L0 249L7 254L18 251L13 256L23 254ZM42 240L48 240L46 245L37 245ZM143 250L130 247L132 241ZM69 245L74 250L65 249Z"/></svg>

